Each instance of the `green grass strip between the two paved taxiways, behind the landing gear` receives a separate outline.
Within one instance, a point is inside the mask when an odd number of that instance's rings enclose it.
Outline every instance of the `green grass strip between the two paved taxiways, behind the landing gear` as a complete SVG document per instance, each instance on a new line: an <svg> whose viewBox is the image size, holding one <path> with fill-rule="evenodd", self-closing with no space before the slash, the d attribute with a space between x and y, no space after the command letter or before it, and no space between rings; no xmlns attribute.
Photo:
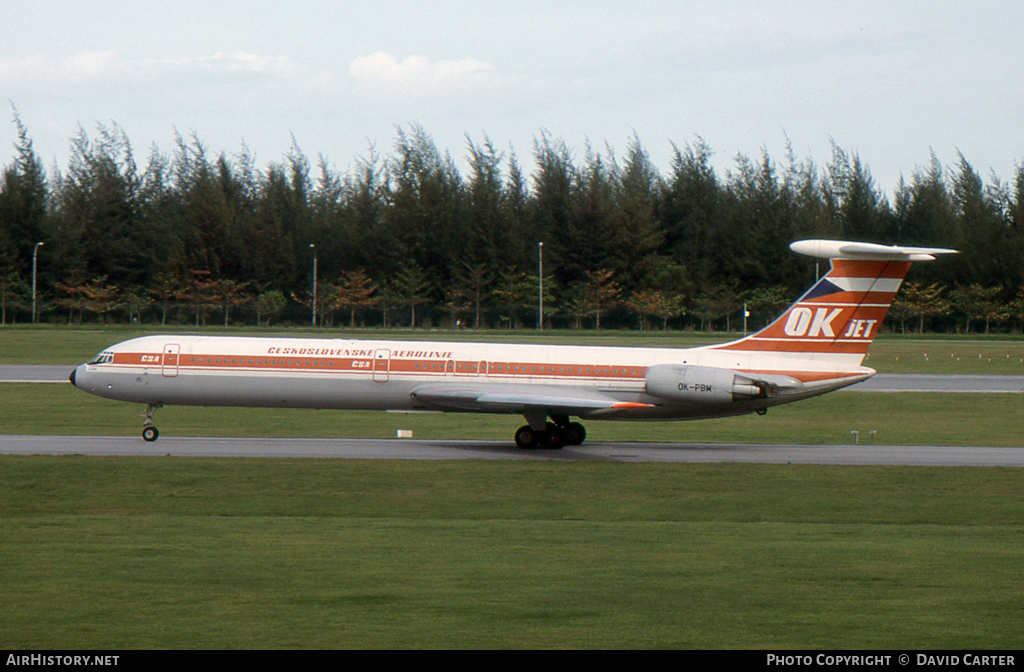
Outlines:
<svg viewBox="0 0 1024 672"><path fill-rule="evenodd" d="M0 434L138 435L143 407L86 394L71 385L0 385ZM588 440L689 443L1024 446L1024 394L861 393L771 409L765 416L690 422L587 422ZM313 436L509 440L519 416L395 414L301 409L167 407L156 415L164 436Z"/></svg>

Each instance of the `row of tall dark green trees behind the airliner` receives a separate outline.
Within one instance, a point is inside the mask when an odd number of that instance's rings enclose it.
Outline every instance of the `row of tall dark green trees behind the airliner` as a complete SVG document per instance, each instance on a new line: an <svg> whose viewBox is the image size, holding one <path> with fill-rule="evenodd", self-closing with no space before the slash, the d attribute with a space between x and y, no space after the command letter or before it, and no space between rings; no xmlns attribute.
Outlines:
<svg viewBox="0 0 1024 672"><path fill-rule="evenodd" d="M933 154L889 196L835 143L824 166L765 151L719 174L698 137L663 172L635 136L620 157L542 132L527 167L467 138L463 174L414 125L339 171L294 140L259 167L196 135L140 162L112 124L81 129L47 171L13 123L3 324L31 320L35 253L50 323L536 327L543 284L546 326L729 329L745 304L753 328L813 280L815 261L787 249L802 238L961 250L914 266L896 329L1024 320L1024 165L986 182L963 155L947 168Z"/></svg>

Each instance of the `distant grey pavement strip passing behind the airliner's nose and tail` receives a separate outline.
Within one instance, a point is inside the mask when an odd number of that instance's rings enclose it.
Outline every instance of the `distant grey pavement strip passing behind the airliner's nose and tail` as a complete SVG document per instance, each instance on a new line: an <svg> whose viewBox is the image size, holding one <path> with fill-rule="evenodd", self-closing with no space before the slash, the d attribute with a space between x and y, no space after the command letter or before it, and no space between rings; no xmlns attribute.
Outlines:
<svg viewBox="0 0 1024 672"><path fill-rule="evenodd" d="M68 383L75 369L68 365L2 365L0 382ZM845 387L848 392L976 392L1024 393L1024 376L959 376L932 374L877 374Z"/></svg>

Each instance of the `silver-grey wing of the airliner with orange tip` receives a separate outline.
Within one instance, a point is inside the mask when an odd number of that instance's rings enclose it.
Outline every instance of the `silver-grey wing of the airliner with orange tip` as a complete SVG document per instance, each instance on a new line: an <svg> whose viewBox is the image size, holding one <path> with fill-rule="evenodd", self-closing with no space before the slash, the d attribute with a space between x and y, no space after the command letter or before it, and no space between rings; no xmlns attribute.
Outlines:
<svg viewBox="0 0 1024 672"><path fill-rule="evenodd" d="M624 402L597 390L563 385L438 383L417 387L411 394L433 410L476 413L544 412L551 416L587 417L650 406Z"/></svg>

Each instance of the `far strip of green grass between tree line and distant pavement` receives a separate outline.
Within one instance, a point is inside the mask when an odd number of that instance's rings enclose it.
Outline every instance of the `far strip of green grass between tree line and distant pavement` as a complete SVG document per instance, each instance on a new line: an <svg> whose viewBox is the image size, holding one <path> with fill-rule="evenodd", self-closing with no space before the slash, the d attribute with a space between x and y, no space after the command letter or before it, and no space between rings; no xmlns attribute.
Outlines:
<svg viewBox="0 0 1024 672"><path fill-rule="evenodd" d="M385 338L401 340L468 340L516 343L580 345L628 345L635 347L695 347L719 343L739 334L695 332L545 331L534 330L374 330L292 329L159 326L54 327L16 326L0 328L0 364L81 364L119 341L161 333L232 334L248 336L293 336L321 338ZM885 335L871 345L866 366L881 373L1000 374L1024 375L1024 338L1020 336L902 336Z"/></svg>

